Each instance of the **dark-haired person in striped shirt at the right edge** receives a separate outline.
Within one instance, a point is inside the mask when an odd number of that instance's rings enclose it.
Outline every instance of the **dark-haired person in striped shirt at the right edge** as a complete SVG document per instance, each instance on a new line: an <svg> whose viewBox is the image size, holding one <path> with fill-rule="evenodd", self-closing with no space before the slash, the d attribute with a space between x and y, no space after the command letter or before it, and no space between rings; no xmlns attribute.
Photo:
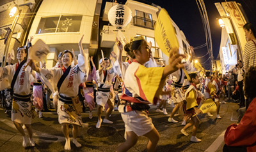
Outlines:
<svg viewBox="0 0 256 152"><path fill-rule="evenodd" d="M249 67L256 66L256 31L252 24L244 24L244 32L247 43L244 46L244 71Z"/></svg>

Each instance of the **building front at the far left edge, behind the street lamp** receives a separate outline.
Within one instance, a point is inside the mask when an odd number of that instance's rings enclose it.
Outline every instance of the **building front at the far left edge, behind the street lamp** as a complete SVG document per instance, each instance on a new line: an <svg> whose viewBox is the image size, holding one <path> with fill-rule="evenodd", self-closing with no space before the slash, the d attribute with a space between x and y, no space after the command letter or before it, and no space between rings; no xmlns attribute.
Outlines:
<svg viewBox="0 0 256 152"><path fill-rule="evenodd" d="M28 32L31 26L31 22L33 21L33 15L35 14L40 1L37 0L1 0L0 1L0 64L3 63L4 59L4 50L6 52L11 52L13 50L15 54L15 60L12 60L12 63L17 62L17 48L22 45L26 45L28 39ZM9 13L13 7L16 7L17 10L13 17L10 17ZM19 19L15 25L15 29L13 30L12 38L10 39L10 43L4 44L6 41L6 36L8 34L8 28L11 29L14 24L15 17L19 15Z"/></svg>

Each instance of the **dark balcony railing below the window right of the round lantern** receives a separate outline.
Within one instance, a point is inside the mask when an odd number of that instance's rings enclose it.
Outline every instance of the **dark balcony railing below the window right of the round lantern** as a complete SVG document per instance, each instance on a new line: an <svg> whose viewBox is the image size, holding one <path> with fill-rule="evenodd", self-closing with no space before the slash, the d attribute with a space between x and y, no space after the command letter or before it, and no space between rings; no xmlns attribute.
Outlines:
<svg viewBox="0 0 256 152"><path fill-rule="evenodd" d="M143 18L143 17L134 16L133 24L134 24L134 26L144 27L147 29L154 29L156 21L150 20L147 18Z"/></svg>

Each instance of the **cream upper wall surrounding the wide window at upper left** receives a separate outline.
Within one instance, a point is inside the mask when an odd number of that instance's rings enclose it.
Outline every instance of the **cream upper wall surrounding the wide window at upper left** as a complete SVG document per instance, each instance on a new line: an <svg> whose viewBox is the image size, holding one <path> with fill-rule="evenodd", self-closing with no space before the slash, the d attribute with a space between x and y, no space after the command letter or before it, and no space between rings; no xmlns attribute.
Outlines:
<svg viewBox="0 0 256 152"><path fill-rule="evenodd" d="M83 43L90 44L93 15L97 0L44 0L36 13L35 20L31 26L30 36L43 39L47 45L78 43L81 36L86 34ZM38 24L42 17L54 15L83 15L79 32L60 32L36 34Z"/></svg>

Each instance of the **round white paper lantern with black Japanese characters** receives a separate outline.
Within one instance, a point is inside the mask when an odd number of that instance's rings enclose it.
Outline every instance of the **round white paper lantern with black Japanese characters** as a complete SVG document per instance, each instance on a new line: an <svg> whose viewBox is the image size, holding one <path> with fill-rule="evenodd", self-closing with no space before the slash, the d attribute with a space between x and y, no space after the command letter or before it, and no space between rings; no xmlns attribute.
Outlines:
<svg viewBox="0 0 256 152"><path fill-rule="evenodd" d="M115 5L108 12L108 20L116 29L122 29L131 22L132 11L124 4Z"/></svg>

